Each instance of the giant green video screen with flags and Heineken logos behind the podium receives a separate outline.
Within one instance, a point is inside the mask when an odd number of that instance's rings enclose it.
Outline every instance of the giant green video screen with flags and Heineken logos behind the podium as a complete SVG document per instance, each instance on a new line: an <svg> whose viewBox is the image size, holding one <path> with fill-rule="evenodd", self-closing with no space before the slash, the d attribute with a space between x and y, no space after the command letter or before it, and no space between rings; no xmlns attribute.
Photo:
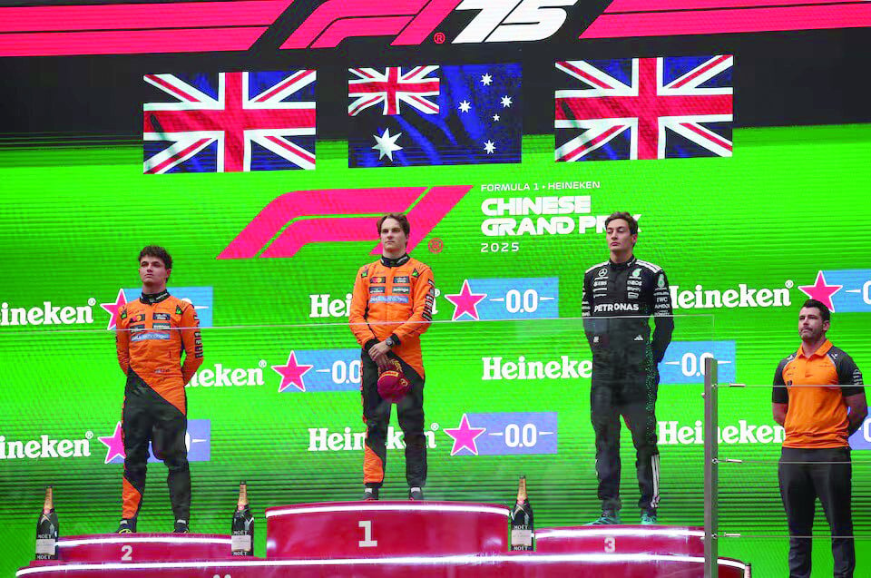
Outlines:
<svg viewBox="0 0 871 578"><path fill-rule="evenodd" d="M408 3L363 34L334 0L170 4L59 6L51 25L34 6L0 8L18 23L0 26L0 69L21 83L0 116L0 573L33 559L46 485L62 536L118 523L115 338L142 291L145 245L170 251L168 289L200 323L203 364L185 387L191 530L229 534L242 480L260 556L264 508L360 499L348 315L360 268L381 254L377 219L394 211L433 274L427 499L513 504L525 475L536 527L600 514L583 280L609 258L605 219L629 211L635 254L667 274L673 310L656 367L659 522L703 524L701 393L716 359L721 384L744 386L719 388L719 456L741 460L720 467L720 531L740 536L719 554L787 572L771 386L799 347L806 299L830 307L829 338L871 371L871 116L856 100L865 88L835 82L864 57L829 57L864 47L861 30L783 33L792 43L718 33L796 31L811 8L744 6L771 16L759 19L707 6L728 13L709 30L698 2L665 23L665 8L629 0L583 18L570 2L524 0L498 18ZM221 6L234 4L245 16ZM854 13L865 24L845 24ZM178 29L171 38L153 15ZM830 15L815 22L871 22L858 5ZM631 22L648 28L630 34ZM393 283L371 283L371 302L409 299ZM636 524L621 431L622 516ZM381 497L406 499L395 412L386 443ZM850 443L861 569L871 420ZM151 450L140 532L171 531L165 480ZM821 509L815 529L815 573L831 573Z"/></svg>

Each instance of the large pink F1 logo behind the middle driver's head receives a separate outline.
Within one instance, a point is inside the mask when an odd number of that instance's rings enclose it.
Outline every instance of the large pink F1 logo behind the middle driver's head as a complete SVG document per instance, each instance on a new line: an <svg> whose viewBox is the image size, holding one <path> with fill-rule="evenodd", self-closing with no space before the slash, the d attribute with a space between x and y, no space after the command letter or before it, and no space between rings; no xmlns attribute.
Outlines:
<svg viewBox="0 0 871 578"><path fill-rule="evenodd" d="M396 212L400 207L407 210L414 204L414 209L407 212L412 224L407 249L411 251L471 190L472 185L457 185L429 190L426 187L391 187L286 192L269 202L220 252L218 259L251 259L258 255L293 257L309 243L375 240L377 231L371 215ZM334 216L298 220L325 212ZM277 233L279 236L269 243ZM379 252L380 243L372 254Z"/></svg>

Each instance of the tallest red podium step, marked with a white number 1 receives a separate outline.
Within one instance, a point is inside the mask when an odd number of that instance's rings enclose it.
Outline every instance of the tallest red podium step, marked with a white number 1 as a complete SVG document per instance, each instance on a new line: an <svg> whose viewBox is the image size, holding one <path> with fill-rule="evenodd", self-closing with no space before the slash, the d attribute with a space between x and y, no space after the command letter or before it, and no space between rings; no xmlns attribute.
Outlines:
<svg viewBox="0 0 871 578"><path fill-rule="evenodd" d="M359 558L507 552L504 505L346 502L268 508L266 556Z"/></svg>

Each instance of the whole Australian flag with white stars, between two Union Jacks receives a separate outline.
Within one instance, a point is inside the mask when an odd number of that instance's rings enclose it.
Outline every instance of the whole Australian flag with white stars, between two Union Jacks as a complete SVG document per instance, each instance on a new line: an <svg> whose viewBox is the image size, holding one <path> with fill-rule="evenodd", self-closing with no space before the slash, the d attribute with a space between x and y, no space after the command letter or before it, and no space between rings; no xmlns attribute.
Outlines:
<svg viewBox="0 0 871 578"><path fill-rule="evenodd" d="M348 69L349 167L520 162L520 64Z"/></svg>

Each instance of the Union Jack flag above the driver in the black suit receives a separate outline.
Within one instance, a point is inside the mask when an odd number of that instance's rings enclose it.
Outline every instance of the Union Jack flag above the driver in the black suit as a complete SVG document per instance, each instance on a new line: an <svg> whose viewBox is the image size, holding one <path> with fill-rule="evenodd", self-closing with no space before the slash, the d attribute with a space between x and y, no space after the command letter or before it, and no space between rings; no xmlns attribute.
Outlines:
<svg viewBox="0 0 871 578"><path fill-rule="evenodd" d="M556 63L557 162L732 155L732 56ZM564 77L563 77L564 78Z"/></svg>

